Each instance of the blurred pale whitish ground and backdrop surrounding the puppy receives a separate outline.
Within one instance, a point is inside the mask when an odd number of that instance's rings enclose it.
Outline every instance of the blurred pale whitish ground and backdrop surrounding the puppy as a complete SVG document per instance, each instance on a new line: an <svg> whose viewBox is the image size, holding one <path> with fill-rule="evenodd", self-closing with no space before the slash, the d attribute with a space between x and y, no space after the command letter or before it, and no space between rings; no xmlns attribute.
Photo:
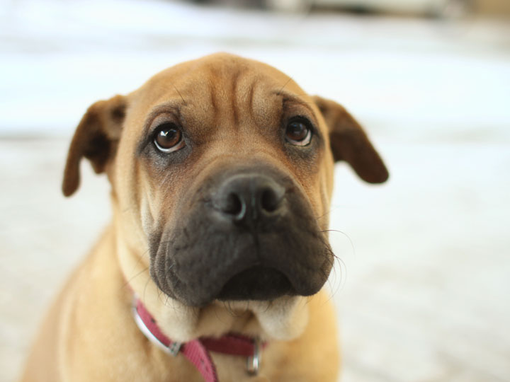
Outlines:
<svg viewBox="0 0 510 382"><path fill-rule="evenodd" d="M111 216L67 144L94 101L217 51L343 103L390 168L336 166L342 381L510 381L509 0L0 1L0 381Z"/></svg>

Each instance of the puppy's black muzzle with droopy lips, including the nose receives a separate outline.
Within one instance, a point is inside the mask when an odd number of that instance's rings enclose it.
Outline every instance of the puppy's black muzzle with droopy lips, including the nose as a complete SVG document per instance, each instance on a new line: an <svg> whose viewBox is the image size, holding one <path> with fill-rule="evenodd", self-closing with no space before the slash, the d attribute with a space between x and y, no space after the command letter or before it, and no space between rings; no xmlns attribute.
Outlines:
<svg viewBox="0 0 510 382"><path fill-rule="evenodd" d="M212 175L152 241L151 275L191 306L317 293L332 253L293 180L269 168Z"/></svg>

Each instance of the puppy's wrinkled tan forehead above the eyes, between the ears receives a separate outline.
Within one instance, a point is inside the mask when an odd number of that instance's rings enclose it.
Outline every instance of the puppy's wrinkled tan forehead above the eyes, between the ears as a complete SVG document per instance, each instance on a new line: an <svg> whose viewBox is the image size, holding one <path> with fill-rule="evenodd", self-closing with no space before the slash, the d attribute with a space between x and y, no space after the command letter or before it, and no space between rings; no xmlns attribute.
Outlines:
<svg viewBox="0 0 510 382"><path fill-rule="evenodd" d="M172 110L190 122L211 125L274 123L285 108L307 115L312 100L290 79L271 66L229 55L214 55L166 69L131 95L137 110L157 115ZM302 113L301 113L302 114Z"/></svg>

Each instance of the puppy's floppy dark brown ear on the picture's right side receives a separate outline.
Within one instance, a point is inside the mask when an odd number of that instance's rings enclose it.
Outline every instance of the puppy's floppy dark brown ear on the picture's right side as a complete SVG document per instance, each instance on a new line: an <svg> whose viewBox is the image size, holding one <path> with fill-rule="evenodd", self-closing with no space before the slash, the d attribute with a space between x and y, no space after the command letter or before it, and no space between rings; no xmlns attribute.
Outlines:
<svg viewBox="0 0 510 382"><path fill-rule="evenodd" d="M377 151L356 120L342 105L314 96L329 128L329 141L335 161L346 161L368 183L383 183L389 173Z"/></svg>

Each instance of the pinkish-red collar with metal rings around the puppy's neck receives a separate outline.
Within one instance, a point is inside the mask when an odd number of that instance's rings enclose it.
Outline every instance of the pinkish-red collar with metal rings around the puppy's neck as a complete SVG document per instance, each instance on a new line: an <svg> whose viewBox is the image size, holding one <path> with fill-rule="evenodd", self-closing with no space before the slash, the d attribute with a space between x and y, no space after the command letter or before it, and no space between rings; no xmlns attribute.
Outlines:
<svg viewBox="0 0 510 382"><path fill-rule="evenodd" d="M261 343L258 338L227 334L220 338L200 337L189 342L174 342L163 334L156 320L152 318L142 301L136 297L132 311L138 328L149 340L174 357L179 353L183 354L200 371L205 382L218 382L216 367L209 352L247 357L248 374L255 375L259 371L261 349L266 344Z"/></svg>

